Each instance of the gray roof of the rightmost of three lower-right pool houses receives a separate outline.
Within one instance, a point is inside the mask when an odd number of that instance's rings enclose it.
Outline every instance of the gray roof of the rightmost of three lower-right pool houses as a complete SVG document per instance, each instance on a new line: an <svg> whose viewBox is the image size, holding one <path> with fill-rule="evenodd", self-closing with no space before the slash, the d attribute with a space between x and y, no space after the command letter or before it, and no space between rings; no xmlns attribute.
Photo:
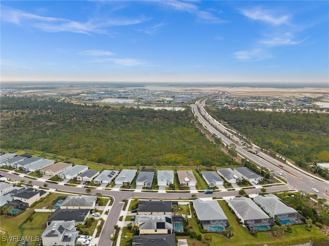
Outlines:
<svg viewBox="0 0 329 246"><path fill-rule="evenodd" d="M285 204L279 197L273 194L267 194L265 196L256 196L253 198L256 203L259 203L274 215L298 213L295 209Z"/></svg>

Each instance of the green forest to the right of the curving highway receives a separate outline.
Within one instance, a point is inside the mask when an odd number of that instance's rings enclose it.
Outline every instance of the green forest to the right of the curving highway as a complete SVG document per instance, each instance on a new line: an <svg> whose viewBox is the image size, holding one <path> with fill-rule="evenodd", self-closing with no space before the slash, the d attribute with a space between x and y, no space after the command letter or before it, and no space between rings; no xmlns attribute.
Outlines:
<svg viewBox="0 0 329 246"><path fill-rule="evenodd" d="M306 163L329 162L329 115L319 113L209 110L260 147Z"/></svg>

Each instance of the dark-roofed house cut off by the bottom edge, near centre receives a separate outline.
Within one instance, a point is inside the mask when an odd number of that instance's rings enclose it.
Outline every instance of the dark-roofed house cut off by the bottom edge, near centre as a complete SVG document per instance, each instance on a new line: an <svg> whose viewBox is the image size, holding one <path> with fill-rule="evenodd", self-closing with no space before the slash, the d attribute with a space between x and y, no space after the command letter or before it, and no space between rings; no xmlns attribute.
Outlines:
<svg viewBox="0 0 329 246"><path fill-rule="evenodd" d="M175 234L150 234L133 236L133 245L176 246Z"/></svg>

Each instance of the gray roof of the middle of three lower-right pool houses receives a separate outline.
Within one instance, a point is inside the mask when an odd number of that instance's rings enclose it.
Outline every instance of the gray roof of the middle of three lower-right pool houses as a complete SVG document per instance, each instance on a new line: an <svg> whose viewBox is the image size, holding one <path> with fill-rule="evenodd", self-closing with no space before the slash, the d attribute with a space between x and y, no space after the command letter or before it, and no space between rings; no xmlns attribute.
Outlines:
<svg viewBox="0 0 329 246"><path fill-rule="evenodd" d="M235 197L227 200L244 220L268 219L268 215L248 197Z"/></svg>

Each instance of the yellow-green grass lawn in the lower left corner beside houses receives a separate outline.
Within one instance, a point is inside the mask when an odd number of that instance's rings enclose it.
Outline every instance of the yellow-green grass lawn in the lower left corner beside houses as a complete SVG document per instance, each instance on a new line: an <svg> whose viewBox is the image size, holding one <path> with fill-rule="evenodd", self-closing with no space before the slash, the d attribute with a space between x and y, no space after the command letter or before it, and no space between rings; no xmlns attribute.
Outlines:
<svg viewBox="0 0 329 246"><path fill-rule="evenodd" d="M64 196L64 194L60 194L60 193L52 193L49 196L49 204L56 199L59 196ZM48 202L46 200L37 203L35 207L31 208L31 209L27 209L25 212L23 212L22 214L18 215L18 216L8 216L8 218L5 217L5 215L1 216L1 230L8 232L8 236L18 236L19 238L21 238L23 235L24 236L35 236L35 235L40 235L44 229L20 229L19 227L21 226L21 224L24 222L24 220L26 218L28 218L33 212L34 209L41 209L42 207L46 207L48 204ZM41 213L36 213L35 214L35 218L32 221L32 224L36 224L37 228L39 227L38 225L45 223L46 220L42 221L43 219L43 215L39 215ZM47 213L44 213L47 214ZM49 213L48 213L49 214ZM41 216L41 217L39 217ZM46 218L44 218L46 219ZM39 221L38 221L39 220ZM28 228L29 225L29 221L27 223L24 223L24 228ZM34 227L34 226L33 226ZM14 246L16 244L16 242L8 242L7 246Z"/></svg>

